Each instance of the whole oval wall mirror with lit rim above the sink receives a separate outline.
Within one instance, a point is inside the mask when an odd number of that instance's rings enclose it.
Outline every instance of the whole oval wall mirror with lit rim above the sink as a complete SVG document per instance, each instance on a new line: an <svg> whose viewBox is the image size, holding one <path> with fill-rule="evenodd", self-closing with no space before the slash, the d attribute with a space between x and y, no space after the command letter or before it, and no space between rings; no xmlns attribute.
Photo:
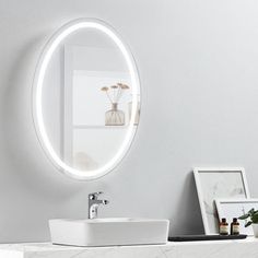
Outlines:
<svg viewBox="0 0 258 258"><path fill-rule="evenodd" d="M81 19L61 27L42 54L33 89L38 139L61 172L95 179L118 165L139 122L140 83L109 25Z"/></svg>

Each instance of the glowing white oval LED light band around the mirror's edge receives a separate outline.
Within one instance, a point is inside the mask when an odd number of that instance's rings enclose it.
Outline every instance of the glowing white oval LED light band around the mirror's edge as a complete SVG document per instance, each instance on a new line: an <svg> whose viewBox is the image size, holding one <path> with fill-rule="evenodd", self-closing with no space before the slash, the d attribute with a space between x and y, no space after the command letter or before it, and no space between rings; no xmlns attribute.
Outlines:
<svg viewBox="0 0 258 258"><path fill-rule="evenodd" d="M52 54L59 46L59 44L68 37L70 34L82 28L95 28L104 34L106 34L109 38L113 39L113 42L117 45L117 47L120 49L120 51L124 55L124 58L126 60L130 78L131 78L131 86L132 86L132 115L129 122L128 131L126 133L125 140L119 148L116 155L107 162L104 166L93 169L93 171L79 171L75 169L69 165L67 165L55 152L49 138L46 132L44 118L43 118L43 84L44 84L44 78L46 73L47 66L51 59ZM57 164L60 168L62 168L63 173L77 178L77 179L95 179L98 177L104 176L108 172L110 172L115 166L121 161L121 159L125 156L127 151L130 148L130 144L132 142L132 139L134 137L134 119L137 115L137 106L138 106L138 89L140 87L139 84L139 78L137 68L134 64L134 60L127 49L127 47L124 45L121 39L117 36L117 34L114 32L114 30L109 26L107 26L105 23L98 20L77 20L73 21L67 25L64 25L54 37L50 39L49 44L47 45L43 56L42 60L38 63L38 70L35 78L35 99L34 99L34 120L37 128L37 133L39 139L42 140L43 146L48 153L48 155L51 157L51 160Z"/></svg>

